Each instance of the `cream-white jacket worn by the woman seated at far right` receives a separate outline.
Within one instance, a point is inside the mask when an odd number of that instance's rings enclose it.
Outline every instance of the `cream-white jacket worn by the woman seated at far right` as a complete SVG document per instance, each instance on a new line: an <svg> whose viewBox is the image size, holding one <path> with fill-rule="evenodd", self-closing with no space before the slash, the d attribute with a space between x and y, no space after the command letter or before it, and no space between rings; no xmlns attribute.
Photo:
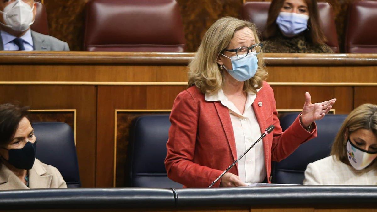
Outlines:
<svg viewBox="0 0 377 212"><path fill-rule="evenodd" d="M356 170L331 155L308 164L303 184L377 185L377 162L365 169Z"/></svg>

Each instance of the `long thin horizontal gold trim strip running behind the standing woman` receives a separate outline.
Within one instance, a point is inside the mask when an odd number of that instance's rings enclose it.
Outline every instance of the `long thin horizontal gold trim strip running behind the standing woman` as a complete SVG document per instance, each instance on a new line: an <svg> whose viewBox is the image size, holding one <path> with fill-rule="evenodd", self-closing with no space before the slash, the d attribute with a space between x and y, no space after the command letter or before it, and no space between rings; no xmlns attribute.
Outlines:
<svg viewBox="0 0 377 212"><path fill-rule="evenodd" d="M268 82L271 86L377 86L375 83L334 83L334 82ZM0 85L112 85L112 86L149 86L172 85L187 86L187 82L90 82L90 81L0 81Z"/></svg>

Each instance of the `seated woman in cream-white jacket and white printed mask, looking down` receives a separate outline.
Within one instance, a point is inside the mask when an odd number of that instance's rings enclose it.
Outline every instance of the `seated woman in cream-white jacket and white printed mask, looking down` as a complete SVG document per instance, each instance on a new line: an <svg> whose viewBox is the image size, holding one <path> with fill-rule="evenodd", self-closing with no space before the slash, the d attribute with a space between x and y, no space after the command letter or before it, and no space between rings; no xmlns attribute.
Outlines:
<svg viewBox="0 0 377 212"><path fill-rule="evenodd" d="M310 163L303 184L377 185L377 105L354 109L335 137L329 157Z"/></svg>

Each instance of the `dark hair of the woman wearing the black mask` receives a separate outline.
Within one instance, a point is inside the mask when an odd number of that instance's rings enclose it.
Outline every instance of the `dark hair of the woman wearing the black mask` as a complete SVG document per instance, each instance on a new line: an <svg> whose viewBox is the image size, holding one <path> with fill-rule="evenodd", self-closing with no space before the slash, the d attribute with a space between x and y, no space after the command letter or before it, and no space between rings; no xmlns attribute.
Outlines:
<svg viewBox="0 0 377 212"><path fill-rule="evenodd" d="M22 118L26 117L30 121L28 115L28 107L0 104L0 145L11 141Z"/></svg>

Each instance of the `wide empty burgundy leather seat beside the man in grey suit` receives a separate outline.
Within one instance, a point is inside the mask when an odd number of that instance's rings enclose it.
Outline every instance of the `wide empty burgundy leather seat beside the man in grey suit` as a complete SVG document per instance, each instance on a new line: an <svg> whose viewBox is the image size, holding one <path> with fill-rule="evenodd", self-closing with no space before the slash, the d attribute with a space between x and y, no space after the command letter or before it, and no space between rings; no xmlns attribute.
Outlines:
<svg viewBox="0 0 377 212"><path fill-rule="evenodd" d="M84 50L183 52L182 18L175 0L92 0Z"/></svg>

